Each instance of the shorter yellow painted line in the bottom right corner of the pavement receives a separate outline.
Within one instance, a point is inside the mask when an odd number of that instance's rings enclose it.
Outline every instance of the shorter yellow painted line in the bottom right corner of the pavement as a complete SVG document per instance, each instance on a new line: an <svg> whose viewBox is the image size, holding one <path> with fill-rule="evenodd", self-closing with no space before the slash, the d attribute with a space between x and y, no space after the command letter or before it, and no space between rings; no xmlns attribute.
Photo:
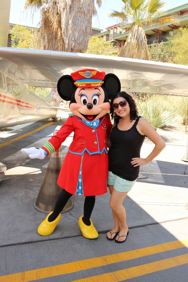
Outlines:
<svg viewBox="0 0 188 282"><path fill-rule="evenodd" d="M113 271L106 274L91 276L84 279L74 280L71 282L119 282L122 280L138 277L141 275L153 273L160 270L169 269L182 264L188 264L188 254L163 259L149 264L142 264L135 267L130 267L123 270Z"/></svg>

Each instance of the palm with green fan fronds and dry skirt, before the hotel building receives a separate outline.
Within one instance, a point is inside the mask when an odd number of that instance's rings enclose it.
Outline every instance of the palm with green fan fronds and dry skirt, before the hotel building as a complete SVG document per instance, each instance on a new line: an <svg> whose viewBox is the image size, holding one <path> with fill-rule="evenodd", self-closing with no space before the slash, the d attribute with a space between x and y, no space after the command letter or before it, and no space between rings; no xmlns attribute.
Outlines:
<svg viewBox="0 0 188 282"><path fill-rule="evenodd" d="M164 17L163 7L166 2L161 0L122 0L121 12L113 10L109 17L117 17L120 22L128 23L128 38L120 52L120 57L149 60L149 51L144 25L158 24L162 27L166 22L178 24L174 16Z"/></svg>

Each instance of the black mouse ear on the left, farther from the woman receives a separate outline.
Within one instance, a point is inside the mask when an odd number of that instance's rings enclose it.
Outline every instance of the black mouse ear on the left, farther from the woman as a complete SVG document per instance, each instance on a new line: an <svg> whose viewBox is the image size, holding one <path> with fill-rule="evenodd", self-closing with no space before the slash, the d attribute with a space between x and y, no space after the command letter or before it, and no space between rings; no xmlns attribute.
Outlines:
<svg viewBox="0 0 188 282"><path fill-rule="evenodd" d="M71 76L61 76L57 82L57 91L60 97L65 101L70 101L75 88L74 80Z"/></svg>

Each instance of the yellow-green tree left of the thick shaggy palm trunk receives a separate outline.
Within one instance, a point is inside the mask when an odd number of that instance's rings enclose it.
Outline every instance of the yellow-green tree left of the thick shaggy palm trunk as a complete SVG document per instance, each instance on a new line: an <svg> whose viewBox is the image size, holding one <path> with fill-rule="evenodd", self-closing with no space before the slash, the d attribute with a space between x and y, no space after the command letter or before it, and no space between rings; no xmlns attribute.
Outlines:
<svg viewBox="0 0 188 282"><path fill-rule="evenodd" d="M26 26L16 24L11 33L12 47L37 49L36 29L27 29Z"/></svg>

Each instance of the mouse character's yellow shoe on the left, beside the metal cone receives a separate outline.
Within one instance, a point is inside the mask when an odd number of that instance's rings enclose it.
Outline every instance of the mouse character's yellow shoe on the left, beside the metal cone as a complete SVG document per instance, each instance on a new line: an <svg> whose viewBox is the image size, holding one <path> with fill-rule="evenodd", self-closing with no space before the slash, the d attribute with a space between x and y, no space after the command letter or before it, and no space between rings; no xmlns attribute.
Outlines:
<svg viewBox="0 0 188 282"><path fill-rule="evenodd" d="M42 236L50 235L54 231L56 225L58 224L58 222L61 219L61 214L59 214L58 217L54 221L49 222L48 218L49 218L50 214L52 214L52 212L49 213L49 215L46 217L46 219L44 219L44 221L41 222L39 227L38 227L37 232Z"/></svg>

